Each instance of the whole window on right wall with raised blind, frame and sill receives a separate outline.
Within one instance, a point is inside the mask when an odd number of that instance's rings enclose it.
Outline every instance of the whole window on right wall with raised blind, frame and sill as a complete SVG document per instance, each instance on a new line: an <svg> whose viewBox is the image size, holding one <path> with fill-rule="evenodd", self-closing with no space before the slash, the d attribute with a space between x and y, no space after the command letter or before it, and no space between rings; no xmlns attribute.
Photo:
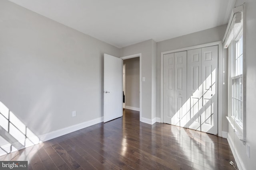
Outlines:
<svg viewBox="0 0 256 170"><path fill-rule="evenodd" d="M228 48L228 122L238 138L246 144L246 116L244 86L244 6L233 8L222 43Z"/></svg>

